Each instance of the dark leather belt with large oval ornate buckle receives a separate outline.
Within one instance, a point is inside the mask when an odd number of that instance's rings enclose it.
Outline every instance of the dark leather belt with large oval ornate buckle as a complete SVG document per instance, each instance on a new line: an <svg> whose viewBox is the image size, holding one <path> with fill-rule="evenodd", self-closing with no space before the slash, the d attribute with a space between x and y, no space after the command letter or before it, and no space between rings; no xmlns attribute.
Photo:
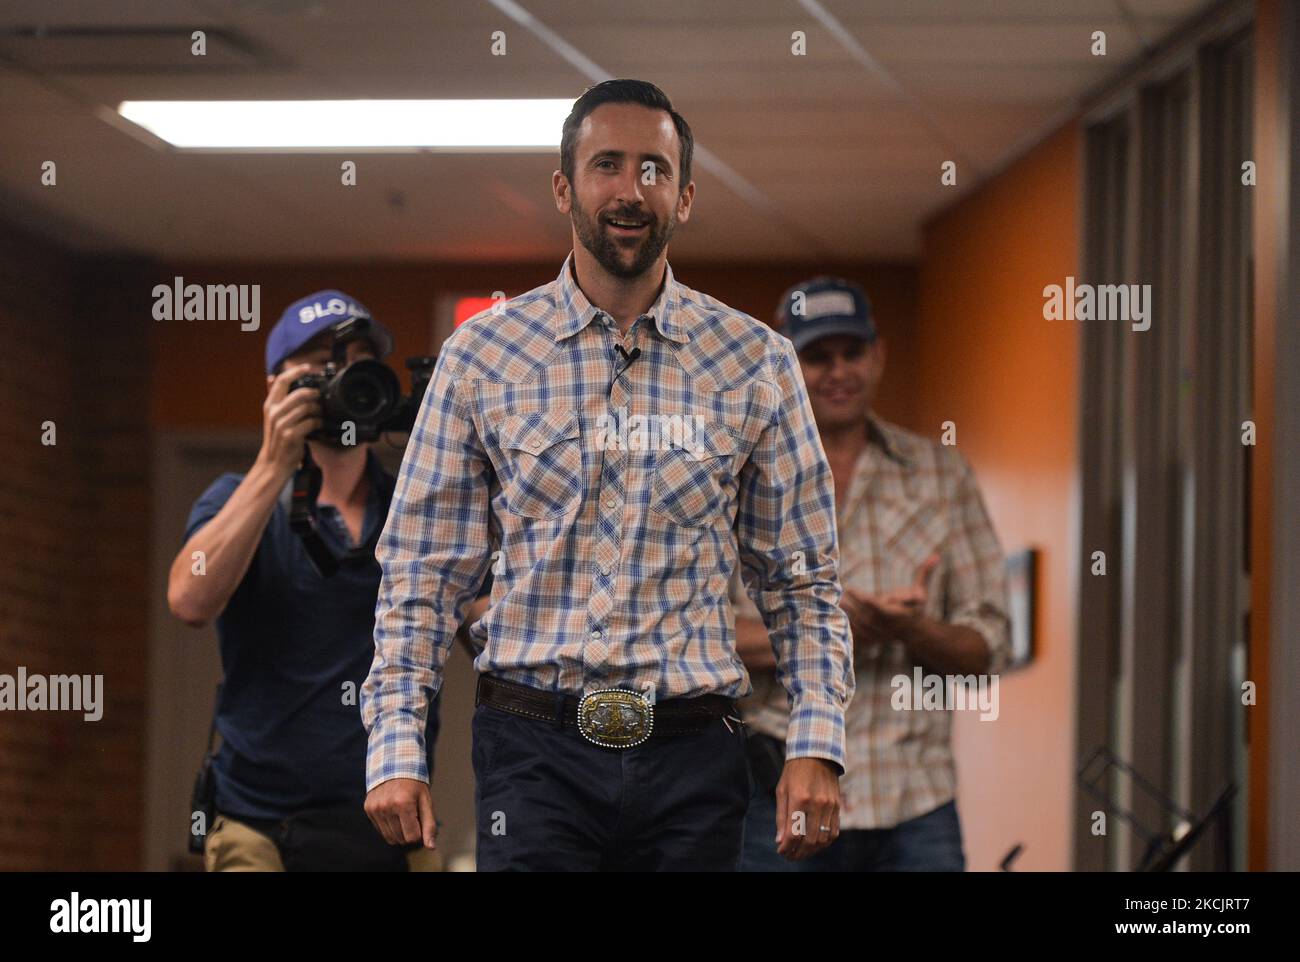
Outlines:
<svg viewBox="0 0 1300 962"><path fill-rule="evenodd" d="M575 697L490 675L478 676L474 705L489 705L556 728L568 725L604 748L632 748L649 737L696 734L718 719L736 714L734 699L720 694L668 698L650 705L630 690L606 689Z"/></svg>

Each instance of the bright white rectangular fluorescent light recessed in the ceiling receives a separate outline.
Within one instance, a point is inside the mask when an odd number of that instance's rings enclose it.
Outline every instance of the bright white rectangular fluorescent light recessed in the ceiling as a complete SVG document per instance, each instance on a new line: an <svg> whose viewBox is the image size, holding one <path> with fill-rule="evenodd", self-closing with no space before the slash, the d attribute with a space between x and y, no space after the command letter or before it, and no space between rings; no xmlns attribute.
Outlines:
<svg viewBox="0 0 1300 962"><path fill-rule="evenodd" d="M182 150L551 151L572 100L126 100Z"/></svg>

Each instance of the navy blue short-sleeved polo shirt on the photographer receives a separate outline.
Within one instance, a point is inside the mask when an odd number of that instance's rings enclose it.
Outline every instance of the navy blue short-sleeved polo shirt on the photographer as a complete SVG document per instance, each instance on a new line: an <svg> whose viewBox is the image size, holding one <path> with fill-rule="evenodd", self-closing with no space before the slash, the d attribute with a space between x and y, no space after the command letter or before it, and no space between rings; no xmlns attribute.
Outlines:
<svg viewBox="0 0 1300 962"><path fill-rule="evenodd" d="M387 519L395 478L367 451L370 481L361 543ZM217 478L190 511L185 538L226 503L243 474ZM342 516L318 506L317 528L337 556L354 547ZM217 707L217 809L283 819L295 811L365 801L361 682L374 659L380 564L373 555L316 573L277 500L247 575L217 618L225 681ZM350 684L348 684L350 682ZM425 744L433 771L438 699Z"/></svg>

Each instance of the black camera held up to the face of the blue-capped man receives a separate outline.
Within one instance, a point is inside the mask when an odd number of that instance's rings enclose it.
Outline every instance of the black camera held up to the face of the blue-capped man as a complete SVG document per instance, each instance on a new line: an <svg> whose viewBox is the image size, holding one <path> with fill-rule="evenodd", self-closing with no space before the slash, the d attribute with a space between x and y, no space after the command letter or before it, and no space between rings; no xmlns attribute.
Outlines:
<svg viewBox="0 0 1300 962"><path fill-rule="evenodd" d="M402 395L398 376L384 361L373 358L347 363L347 346L364 339L370 328L367 317L352 317L332 329L332 358L318 374L303 374L289 390L315 387L321 394L321 426L307 437L333 443L378 441L385 432L410 433L424 391L433 377L436 358L407 358L411 372L411 394ZM348 430L351 425L351 430Z"/></svg>

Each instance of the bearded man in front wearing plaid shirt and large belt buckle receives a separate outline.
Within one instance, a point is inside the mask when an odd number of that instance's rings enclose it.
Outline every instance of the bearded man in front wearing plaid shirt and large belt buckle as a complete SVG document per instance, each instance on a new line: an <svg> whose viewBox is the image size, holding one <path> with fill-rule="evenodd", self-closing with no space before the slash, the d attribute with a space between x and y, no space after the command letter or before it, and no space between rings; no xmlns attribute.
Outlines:
<svg viewBox="0 0 1300 962"><path fill-rule="evenodd" d="M588 90L560 153L572 255L447 339L407 447L361 698L367 812L434 845L422 718L490 567L469 629L478 867L734 870L738 568L792 705L777 845L806 858L838 832L853 663L794 350L675 280L692 134L658 87Z"/></svg>

